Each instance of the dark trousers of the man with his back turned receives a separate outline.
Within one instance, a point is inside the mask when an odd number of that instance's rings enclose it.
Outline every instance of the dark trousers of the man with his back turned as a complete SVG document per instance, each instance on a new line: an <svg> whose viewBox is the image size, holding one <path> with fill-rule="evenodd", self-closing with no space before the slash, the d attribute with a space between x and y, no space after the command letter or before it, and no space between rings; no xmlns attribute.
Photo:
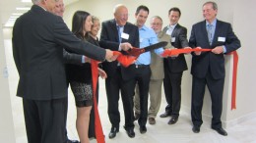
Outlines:
<svg viewBox="0 0 256 143"><path fill-rule="evenodd" d="M29 143L66 143L67 98L23 99Z"/></svg>

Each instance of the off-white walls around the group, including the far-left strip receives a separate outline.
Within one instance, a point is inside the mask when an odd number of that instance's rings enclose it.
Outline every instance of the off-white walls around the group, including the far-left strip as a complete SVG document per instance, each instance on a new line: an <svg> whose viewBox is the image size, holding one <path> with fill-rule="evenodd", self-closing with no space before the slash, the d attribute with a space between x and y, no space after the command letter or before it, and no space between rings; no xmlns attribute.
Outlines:
<svg viewBox="0 0 256 143"><path fill-rule="evenodd" d="M130 12L129 21L135 22L134 13L136 8L141 5L147 5L150 8L150 17L159 15L165 24L168 24L167 11L173 6L177 6L182 11L180 24L186 26L190 32L192 24L195 24L202 19L202 4L205 0L137 0L132 3L131 0L80 0L66 8L64 16L65 22L71 25L71 20L76 10L85 10L93 15L99 17L102 21L112 19L112 8L115 4L123 3L127 6ZM232 58L226 57L226 80L224 90L224 114L222 119L224 125L235 124L242 120L247 120L256 117L254 93L255 88L255 64L253 62L256 48L254 48L254 38L256 37L256 27L254 26L256 18L256 9L254 8L254 0L216 0L219 5L218 18L222 21L233 25L236 35L241 40L242 48L238 50L239 63L237 73L237 109L230 111L230 94L231 94L231 69ZM167 4L166 4L167 3ZM149 24L149 23L147 23ZM7 67L5 60L5 49L3 39L10 39L11 30L5 31L3 38L2 25L0 25L0 138L2 142L14 143L14 125L11 111L10 92L8 86L8 79L4 73ZM188 33L189 36L190 33ZM191 57L186 56L188 66L191 65ZM182 110L189 114L190 100L191 100L191 75L190 70L184 72L182 83ZM16 89L12 89L16 90ZM161 105L165 106L165 105ZM20 113L22 114L22 113ZM207 91L203 114L206 120L211 117L211 100Z"/></svg>

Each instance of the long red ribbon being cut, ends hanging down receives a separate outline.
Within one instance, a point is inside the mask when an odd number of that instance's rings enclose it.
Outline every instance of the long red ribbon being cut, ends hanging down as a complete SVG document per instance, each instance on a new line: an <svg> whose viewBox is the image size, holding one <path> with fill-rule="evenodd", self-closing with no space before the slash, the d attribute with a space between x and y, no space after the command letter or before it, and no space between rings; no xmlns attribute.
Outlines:
<svg viewBox="0 0 256 143"><path fill-rule="evenodd" d="M190 53L190 52L207 52L212 51L212 49L166 49L161 54L163 57L174 56L178 54ZM113 55L118 56L117 61L124 67L128 67L135 62L138 57L123 55L118 51L113 51ZM237 64L238 64L238 54L236 51L231 52L228 55L233 55L233 76L232 76L232 96L231 96L231 110L236 109L236 76L237 76ZM98 62L91 60L92 66L92 76L93 76L93 93L94 93L94 105L95 105L95 127L96 127L96 141L97 143L105 143L104 134L102 130L102 125L98 115L97 104L96 104L96 83L98 78L97 70Z"/></svg>

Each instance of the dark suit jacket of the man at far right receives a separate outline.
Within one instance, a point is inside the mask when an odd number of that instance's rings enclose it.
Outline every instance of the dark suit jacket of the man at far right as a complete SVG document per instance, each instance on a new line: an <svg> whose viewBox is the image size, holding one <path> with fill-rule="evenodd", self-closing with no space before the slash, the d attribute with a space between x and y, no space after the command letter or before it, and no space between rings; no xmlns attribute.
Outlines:
<svg viewBox="0 0 256 143"><path fill-rule="evenodd" d="M221 40L220 37L224 40ZM214 49L217 46L224 45L226 53L232 52L241 46L239 39L232 31L231 25L218 20L212 45L209 44L206 21L192 26L189 45L191 48L202 47L203 49ZM199 78L205 77L210 69L214 78L224 78L224 54L202 52L200 56L193 54L192 56L191 73L193 75Z"/></svg>

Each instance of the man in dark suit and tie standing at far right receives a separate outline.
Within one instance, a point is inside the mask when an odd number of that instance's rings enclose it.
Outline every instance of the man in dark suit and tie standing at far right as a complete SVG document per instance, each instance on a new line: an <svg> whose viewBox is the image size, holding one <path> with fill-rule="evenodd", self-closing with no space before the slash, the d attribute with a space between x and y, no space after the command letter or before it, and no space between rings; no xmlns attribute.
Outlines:
<svg viewBox="0 0 256 143"><path fill-rule="evenodd" d="M212 128L226 136L222 126L223 92L224 92L224 54L240 47L240 41L232 31L230 24L217 20L218 6L215 2L206 2L203 5L205 21L192 26L189 45L192 48L212 49L211 52L195 52L192 57L191 73L192 104L191 117L193 132L200 132L202 107L205 86L212 99Z"/></svg>

